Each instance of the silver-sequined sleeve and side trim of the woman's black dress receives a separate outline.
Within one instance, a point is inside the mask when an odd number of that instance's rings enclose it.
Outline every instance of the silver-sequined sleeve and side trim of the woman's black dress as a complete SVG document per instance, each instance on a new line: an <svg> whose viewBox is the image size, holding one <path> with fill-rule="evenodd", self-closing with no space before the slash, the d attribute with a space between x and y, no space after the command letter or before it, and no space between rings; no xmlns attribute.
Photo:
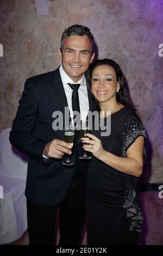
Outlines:
<svg viewBox="0 0 163 256"><path fill-rule="evenodd" d="M146 159L146 131L140 118L130 109L127 109L122 120L122 148L121 156L126 157L127 149L135 142L136 138L143 136L145 138L143 156ZM124 174L126 181L126 195L124 198L123 208L127 211L127 217L130 218L130 231L137 233L137 245L141 245L141 224L142 210L139 200L139 191L137 190L137 182L139 178Z"/></svg>

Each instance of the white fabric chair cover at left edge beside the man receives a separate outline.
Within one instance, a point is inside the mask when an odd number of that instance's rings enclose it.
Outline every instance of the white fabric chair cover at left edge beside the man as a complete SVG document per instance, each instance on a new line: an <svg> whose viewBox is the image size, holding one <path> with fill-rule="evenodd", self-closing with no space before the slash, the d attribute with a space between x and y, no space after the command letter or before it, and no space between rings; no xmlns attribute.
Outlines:
<svg viewBox="0 0 163 256"><path fill-rule="evenodd" d="M24 190L28 157L11 146L10 130L5 129L0 134L0 185L3 187L0 196L0 245L19 239L27 230Z"/></svg>

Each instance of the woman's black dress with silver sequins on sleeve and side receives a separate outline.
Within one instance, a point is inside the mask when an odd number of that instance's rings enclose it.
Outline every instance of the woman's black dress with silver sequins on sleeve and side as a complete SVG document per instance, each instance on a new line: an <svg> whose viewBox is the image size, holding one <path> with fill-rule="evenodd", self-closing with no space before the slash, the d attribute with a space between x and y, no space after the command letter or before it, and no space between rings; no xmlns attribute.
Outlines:
<svg viewBox="0 0 163 256"><path fill-rule="evenodd" d="M92 134L101 139L106 151L126 157L126 150L137 137L146 138L145 129L129 107L110 118L109 136L101 136L101 130L93 130ZM106 123L106 118L102 120ZM87 245L141 244L142 211L137 181L135 176L119 172L92 156L86 186Z"/></svg>

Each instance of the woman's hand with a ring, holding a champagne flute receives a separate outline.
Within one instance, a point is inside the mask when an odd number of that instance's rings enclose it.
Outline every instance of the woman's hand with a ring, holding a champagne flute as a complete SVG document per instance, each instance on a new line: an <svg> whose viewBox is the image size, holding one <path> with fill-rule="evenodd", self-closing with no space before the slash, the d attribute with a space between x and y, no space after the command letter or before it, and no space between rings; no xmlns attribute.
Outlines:
<svg viewBox="0 0 163 256"><path fill-rule="evenodd" d="M91 139L82 139L82 143L87 143L87 145L84 144L83 149L85 151L91 152L97 159L100 160L101 156L105 152L101 140L90 133L86 133L85 135Z"/></svg>

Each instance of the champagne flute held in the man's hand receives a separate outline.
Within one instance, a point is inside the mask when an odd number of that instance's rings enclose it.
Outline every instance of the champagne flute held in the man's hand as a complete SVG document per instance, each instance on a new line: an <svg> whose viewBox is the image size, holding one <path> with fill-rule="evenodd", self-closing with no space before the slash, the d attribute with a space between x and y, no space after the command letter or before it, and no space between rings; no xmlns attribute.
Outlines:
<svg viewBox="0 0 163 256"><path fill-rule="evenodd" d="M70 144L73 147L74 142L74 129L72 126L68 126L65 129L65 142ZM72 149L72 148L71 148ZM70 156L67 155L66 159L62 161L62 164L65 166L72 166L74 164L73 161L70 160Z"/></svg>

